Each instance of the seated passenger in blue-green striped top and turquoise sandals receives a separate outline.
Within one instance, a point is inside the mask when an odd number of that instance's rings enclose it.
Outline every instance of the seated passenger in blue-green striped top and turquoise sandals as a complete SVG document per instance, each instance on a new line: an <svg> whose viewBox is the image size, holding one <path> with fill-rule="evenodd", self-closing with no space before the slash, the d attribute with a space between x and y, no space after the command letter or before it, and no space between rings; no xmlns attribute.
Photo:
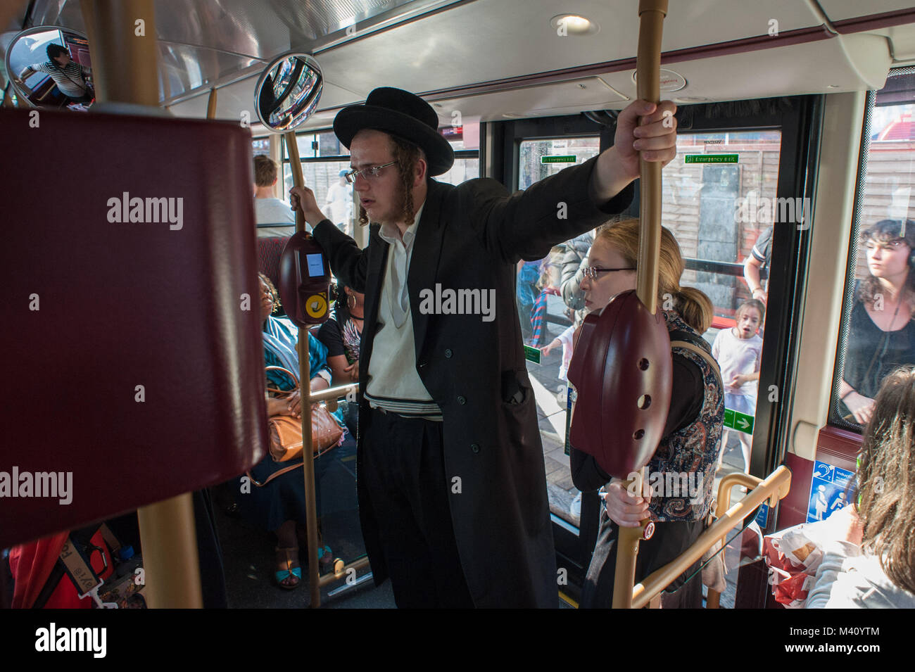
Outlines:
<svg viewBox="0 0 915 672"><path fill-rule="evenodd" d="M283 317L273 317L271 313L277 302L277 293L273 283L263 273L258 273L261 281L261 315L264 318L264 361L268 367L283 367L296 375L295 383L282 371L267 371L267 386L276 389L293 389L298 383L298 354L296 342L298 329L296 325ZM327 348L322 346L318 339L308 334L308 359L311 371L311 391L328 389L330 386L330 371L327 365ZM267 401L267 415L289 415L301 417L301 401L298 391L292 396L276 398ZM318 473L321 460L316 461L316 485L320 484ZM258 483L264 481L275 471L288 466L274 462L270 455L264 457L260 463L251 470L254 480ZM236 496L242 516L250 519L260 528L269 529L276 534L276 582L281 588L291 590L296 588L302 578L302 570L298 562L298 540L296 531L303 535L306 526L306 498L305 481L302 472L298 469L277 476L264 487L250 484L248 488L241 489ZM247 492L250 489L250 493ZM320 493L316 493L318 502ZM296 525L298 526L296 529ZM318 543L320 531L318 530ZM318 550L322 568L327 568L333 563L330 549L327 546Z"/></svg>

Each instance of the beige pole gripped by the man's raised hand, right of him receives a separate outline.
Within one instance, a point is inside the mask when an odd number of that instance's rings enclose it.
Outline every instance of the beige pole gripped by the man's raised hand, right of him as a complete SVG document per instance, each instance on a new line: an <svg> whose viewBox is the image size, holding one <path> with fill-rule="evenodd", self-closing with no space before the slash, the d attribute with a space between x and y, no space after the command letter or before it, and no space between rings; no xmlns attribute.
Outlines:
<svg viewBox="0 0 915 672"><path fill-rule="evenodd" d="M639 52L636 57L636 91L640 100L661 101L661 36L667 0L640 0ZM661 255L661 164L640 160L641 221L636 295L653 315L658 307L658 259ZM641 492L644 468L637 485ZM627 483L628 485L628 483ZM632 607L635 561L647 521L639 528L619 528L617 567L613 584L613 608Z"/></svg>

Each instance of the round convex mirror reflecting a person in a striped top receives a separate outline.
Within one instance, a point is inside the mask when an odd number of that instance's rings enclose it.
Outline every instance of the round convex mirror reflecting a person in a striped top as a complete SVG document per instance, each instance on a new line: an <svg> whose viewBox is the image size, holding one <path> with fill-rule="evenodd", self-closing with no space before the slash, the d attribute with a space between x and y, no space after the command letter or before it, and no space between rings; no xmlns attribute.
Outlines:
<svg viewBox="0 0 915 672"><path fill-rule="evenodd" d="M57 26L22 31L6 49L6 72L32 107L85 111L95 100L86 36Z"/></svg>

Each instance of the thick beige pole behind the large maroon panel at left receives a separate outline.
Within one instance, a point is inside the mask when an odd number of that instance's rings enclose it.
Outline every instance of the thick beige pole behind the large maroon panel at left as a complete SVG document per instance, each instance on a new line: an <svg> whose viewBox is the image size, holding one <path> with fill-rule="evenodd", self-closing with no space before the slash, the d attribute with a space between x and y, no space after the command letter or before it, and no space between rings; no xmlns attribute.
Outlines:
<svg viewBox="0 0 915 672"><path fill-rule="evenodd" d="M82 0L99 101L158 106L153 0ZM194 506L186 493L136 511L146 602L153 609L203 606Z"/></svg>

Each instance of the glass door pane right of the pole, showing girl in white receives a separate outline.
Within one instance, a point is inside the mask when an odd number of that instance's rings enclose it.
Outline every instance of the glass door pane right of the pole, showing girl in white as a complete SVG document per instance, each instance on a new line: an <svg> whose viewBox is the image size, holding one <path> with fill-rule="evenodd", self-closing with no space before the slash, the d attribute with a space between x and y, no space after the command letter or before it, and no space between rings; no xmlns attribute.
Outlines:
<svg viewBox="0 0 915 672"><path fill-rule="evenodd" d="M778 130L681 133L664 169L662 225L683 252L681 284L715 306L705 339L725 383L721 475L749 471L772 233L810 209L776 197L780 148Z"/></svg>

